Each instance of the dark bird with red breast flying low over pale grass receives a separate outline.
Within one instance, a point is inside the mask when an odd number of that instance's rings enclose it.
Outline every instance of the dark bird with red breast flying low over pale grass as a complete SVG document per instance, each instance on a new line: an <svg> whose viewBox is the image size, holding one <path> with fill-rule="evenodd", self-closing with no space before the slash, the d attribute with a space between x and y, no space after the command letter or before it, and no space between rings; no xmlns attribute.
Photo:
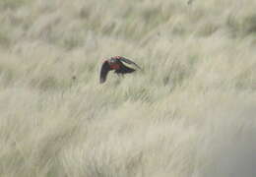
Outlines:
<svg viewBox="0 0 256 177"><path fill-rule="evenodd" d="M106 81L106 77L109 71L114 70L114 73L118 76L123 76L124 74L133 73L136 70L124 65L122 62L125 62L130 65L136 66L141 70L141 67L136 63L122 56L113 56L109 59L104 60L100 69L99 83L102 84Z"/></svg>

